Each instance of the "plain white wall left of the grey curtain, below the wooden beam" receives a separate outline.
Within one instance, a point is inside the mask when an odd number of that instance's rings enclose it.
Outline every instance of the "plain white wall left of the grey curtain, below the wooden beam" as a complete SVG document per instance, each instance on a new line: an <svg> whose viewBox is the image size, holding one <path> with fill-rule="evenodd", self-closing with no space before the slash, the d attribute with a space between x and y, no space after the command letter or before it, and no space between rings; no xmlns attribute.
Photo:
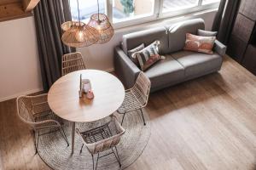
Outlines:
<svg viewBox="0 0 256 170"><path fill-rule="evenodd" d="M0 22L0 101L40 90L33 17Z"/></svg>

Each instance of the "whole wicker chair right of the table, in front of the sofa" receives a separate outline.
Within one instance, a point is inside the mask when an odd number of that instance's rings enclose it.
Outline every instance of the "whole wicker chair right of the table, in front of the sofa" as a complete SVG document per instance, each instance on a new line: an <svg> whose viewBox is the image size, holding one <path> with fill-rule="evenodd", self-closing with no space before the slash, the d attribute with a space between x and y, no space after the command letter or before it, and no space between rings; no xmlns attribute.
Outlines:
<svg viewBox="0 0 256 170"><path fill-rule="evenodd" d="M150 87L150 80L143 72L140 72L134 86L125 90L125 100L117 111L119 114L123 114L121 125L124 122L125 114L128 112L140 110L143 116L143 108L148 104ZM146 125L144 116L143 122Z"/></svg>

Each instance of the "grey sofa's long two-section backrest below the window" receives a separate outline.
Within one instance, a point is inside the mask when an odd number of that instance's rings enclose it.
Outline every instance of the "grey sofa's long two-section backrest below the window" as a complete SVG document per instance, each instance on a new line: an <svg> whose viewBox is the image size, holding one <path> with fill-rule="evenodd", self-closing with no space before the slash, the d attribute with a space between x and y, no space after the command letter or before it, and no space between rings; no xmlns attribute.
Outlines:
<svg viewBox="0 0 256 170"><path fill-rule="evenodd" d="M160 26L144 31L137 31L123 36L122 48L127 52L142 43L145 47L155 40L160 41L160 54L171 54L182 50L185 45L186 33L197 34L197 30L205 29L202 19L185 20L170 26Z"/></svg>

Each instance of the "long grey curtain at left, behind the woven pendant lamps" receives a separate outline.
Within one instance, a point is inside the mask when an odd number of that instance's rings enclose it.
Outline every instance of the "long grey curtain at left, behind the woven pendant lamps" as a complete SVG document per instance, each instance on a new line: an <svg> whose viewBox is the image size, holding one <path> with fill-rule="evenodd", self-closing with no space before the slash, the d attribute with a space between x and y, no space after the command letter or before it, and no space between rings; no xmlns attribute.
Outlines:
<svg viewBox="0 0 256 170"><path fill-rule="evenodd" d="M71 20L67 1L41 0L34 9L41 74L46 92L61 77L61 56L71 52L61 42L61 24L65 18Z"/></svg>

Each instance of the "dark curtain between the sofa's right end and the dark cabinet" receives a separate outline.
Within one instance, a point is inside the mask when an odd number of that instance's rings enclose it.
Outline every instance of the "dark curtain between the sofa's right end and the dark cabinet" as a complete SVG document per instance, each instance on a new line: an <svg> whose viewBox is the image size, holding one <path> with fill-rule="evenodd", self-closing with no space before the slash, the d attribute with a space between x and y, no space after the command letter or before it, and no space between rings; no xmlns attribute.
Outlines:
<svg viewBox="0 0 256 170"><path fill-rule="evenodd" d="M241 0L221 0L218 13L212 25L212 31L218 31L218 41L227 44L236 19Z"/></svg>

